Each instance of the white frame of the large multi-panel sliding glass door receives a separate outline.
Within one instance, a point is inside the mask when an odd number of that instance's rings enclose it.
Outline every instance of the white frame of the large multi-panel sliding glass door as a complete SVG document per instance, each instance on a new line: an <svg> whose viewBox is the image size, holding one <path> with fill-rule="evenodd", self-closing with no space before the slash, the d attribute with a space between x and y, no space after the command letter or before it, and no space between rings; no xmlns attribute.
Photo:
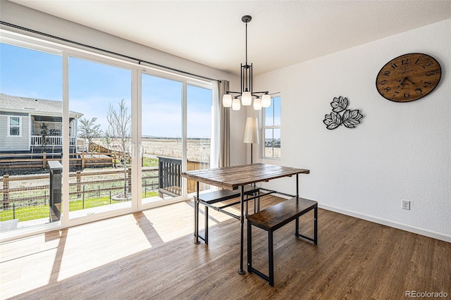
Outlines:
<svg viewBox="0 0 451 300"><path fill-rule="evenodd" d="M192 77L190 75L183 75L179 73L175 73L170 70L162 70L160 68L145 65L143 62L131 62L126 61L120 58L116 58L113 56L108 56L105 54L99 54L94 51L87 51L85 49L76 48L73 46L66 46L64 44L58 44L57 42L49 42L45 41L43 39L39 39L36 37L29 37L27 35L22 35L16 32L10 32L8 30L0 29L0 37L1 42L4 44L11 44L13 46L19 46L23 48L32 49L34 51L44 51L49 54L56 54L58 56L61 56L62 58L62 77L63 77L63 152L68 152L69 149L69 92L68 92L68 68L69 68L69 58L80 58L85 59L87 61L92 61L94 63L104 63L106 65L111 65L118 68L124 68L128 69L132 73L132 96L131 96L131 112L132 115L135 115L136 118L133 118L132 121L132 132L135 132L132 134L132 143L137 150L138 145L140 145L141 142L141 132L140 127L142 124L141 120L141 82L140 82L140 76L142 73L147 73L151 75L155 75L158 77L163 77L169 80L175 80L183 82L183 136L186 137L186 126L185 126L185 120L186 120L186 89L187 85L193 85L197 87L204 87L207 89L214 89L213 80L203 80L199 79L197 77ZM16 116L16 115L12 115ZM24 116L25 117L25 116ZM8 119L8 125L9 125L9 119ZM20 135L23 134L22 127L23 126L23 118L20 116ZM31 123L29 124L31 126ZM30 128L29 128L30 129ZM8 126L8 136L9 135L9 126ZM18 136L11 136L11 137L18 137ZM183 146L183 149L186 149L186 139L185 139L185 146ZM185 153L185 151L183 151ZM183 154L185 155L185 154ZM69 190L69 180L68 180L68 170L69 170L69 156L63 156L63 180L62 180L62 189L63 191ZM183 157L183 162L186 165L186 157ZM185 170L186 167L183 168ZM137 182L140 182L141 178L141 168L140 168L140 159L135 159L132 161L132 186L137 187ZM187 193L186 193L186 185L183 185L183 195L180 197L177 197L177 199L174 199L174 202L179 201L186 201L188 199ZM56 230L61 227L67 227L67 226L73 226L73 225L80 225L83 223L92 222L94 220L102 220L105 218L110 218L111 216L116 215L123 215L125 213L135 212L135 211L142 211L144 209L148 209L153 207L153 204L142 204L140 193L135 193L134 198L132 199L132 206L131 208L123 208L116 211L106 212L106 213L99 213L94 215L89 215L84 218L69 218L68 214L68 207L69 207L69 197L68 192L63 193L62 196L62 204L63 204L63 214L61 215L60 222L45 224L41 226L36 227L30 227L30 230L27 230L25 232L13 232L13 235L23 235L27 236L31 233L35 232L47 232L50 230ZM161 205L170 204L169 201L161 201ZM64 208L65 207L65 208Z"/></svg>

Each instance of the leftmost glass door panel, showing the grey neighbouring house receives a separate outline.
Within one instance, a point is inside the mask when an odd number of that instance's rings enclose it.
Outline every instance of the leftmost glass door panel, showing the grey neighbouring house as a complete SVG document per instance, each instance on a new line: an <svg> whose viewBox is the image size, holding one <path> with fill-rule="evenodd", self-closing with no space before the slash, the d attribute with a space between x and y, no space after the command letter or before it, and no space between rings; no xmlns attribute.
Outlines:
<svg viewBox="0 0 451 300"><path fill-rule="evenodd" d="M61 52L6 41L0 43L0 233L8 234L60 220L59 161L67 137Z"/></svg>

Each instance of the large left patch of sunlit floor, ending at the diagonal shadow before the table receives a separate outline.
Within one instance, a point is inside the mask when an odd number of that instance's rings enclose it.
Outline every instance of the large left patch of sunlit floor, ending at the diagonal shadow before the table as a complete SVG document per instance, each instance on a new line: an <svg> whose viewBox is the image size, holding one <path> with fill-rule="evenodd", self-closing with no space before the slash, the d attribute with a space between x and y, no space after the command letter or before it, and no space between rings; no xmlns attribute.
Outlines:
<svg viewBox="0 0 451 300"><path fill-rule="evenodd" d="M0 299L85 273L151 247L132 214L1 244Z"/></svg>

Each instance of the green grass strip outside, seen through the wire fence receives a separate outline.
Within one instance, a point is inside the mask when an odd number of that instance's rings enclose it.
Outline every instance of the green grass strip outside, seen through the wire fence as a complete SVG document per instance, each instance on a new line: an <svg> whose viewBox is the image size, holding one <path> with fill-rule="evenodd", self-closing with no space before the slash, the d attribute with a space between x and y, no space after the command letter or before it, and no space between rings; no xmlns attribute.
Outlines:
<svg viewBox="0 0 451 300"><path fill-rule="evenodd" d="M158 192L147 192L147 197L151 196L158 196ZM144 192L142 193L142 198L144 198ZM111 201L111 204L113 203L116 203L116 201ZM85 208L94 208L109 204L109 196L85 199ZM83 200L69 201L69 211L79 211L80 209L83 209ZM1 221L13 220L14 216L16 216L16 219L19 219L20 222L47 218L49 217L49 205L18 207L15 208L14 212L13 208L0 211Z"/></svg>

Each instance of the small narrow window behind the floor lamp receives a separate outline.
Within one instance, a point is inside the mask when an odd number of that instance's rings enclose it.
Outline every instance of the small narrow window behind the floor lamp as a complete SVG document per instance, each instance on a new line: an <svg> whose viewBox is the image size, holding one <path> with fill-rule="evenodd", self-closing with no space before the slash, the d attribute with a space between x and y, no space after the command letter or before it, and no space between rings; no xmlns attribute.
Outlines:
<svg viewBox="0 0 451 300"><path fill-rule="evenodd" d="M280 96L271 96L271 106L263 111L264 158L280 158Z"/></svg>

